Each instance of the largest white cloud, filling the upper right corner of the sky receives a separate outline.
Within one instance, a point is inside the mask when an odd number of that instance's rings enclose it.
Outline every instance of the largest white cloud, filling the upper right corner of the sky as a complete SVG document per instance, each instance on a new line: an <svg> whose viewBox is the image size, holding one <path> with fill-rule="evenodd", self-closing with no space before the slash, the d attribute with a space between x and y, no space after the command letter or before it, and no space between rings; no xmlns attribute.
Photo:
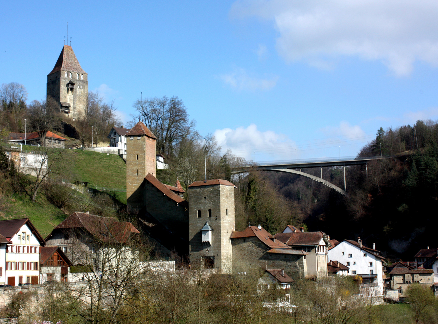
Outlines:
<svg viewBox="0 0 438 324"><path fill-rule="evenodd" d="M359 56L399 76L416 60L438 66L436 0L239 0L230 16L272 20L287 62L330 68L338 57Z"/></svg>

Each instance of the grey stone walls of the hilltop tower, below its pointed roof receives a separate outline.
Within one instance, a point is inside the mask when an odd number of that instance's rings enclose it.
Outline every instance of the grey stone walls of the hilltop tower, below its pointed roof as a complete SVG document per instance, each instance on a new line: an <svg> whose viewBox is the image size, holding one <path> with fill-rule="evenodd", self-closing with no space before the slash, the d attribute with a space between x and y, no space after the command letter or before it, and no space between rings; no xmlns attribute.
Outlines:
<svg viewBox="0 0 438 324"><path fill-rule="evenodd" d="M65 73L67 72L67 77ZM72 76L70 77L70 73ZM79 74L79 78L76 78ZM81 74L83 80L81 80ZM73 81L74 91L67 93L67 83ZM47 98L52 97L61 108L60 102L70 103L70 118L79 119L85 114L88 99L88 74L84 72L75 72L60 70L47 76Z"/></svg>

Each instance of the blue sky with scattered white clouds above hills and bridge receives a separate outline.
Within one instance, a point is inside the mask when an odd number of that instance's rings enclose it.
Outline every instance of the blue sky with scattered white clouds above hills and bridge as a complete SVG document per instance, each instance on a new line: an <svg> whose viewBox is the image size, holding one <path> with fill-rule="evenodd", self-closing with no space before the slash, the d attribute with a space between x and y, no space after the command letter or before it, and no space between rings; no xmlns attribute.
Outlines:
<svg viewBox="0 0 438 324"><path fill-rule="evenodd" d="M201 134L256 161L356 155L379 127L438 119L436 1L9 1L0 84L46 95L67 36L124 122L180 97Z"/></svg>

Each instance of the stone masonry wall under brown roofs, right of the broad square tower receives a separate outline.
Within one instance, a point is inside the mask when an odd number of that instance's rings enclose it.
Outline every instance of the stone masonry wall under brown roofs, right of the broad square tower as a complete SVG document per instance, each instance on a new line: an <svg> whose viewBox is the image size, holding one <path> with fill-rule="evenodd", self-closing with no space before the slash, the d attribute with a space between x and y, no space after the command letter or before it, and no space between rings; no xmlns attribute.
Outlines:
<svg viewBox="0 0 438 324"><path fill-rule="evenodd" d="M270 247L257 237L231 239L233 244L233 268L236 272L252 267L284 269L291 278L304 278L307 274L306 259L301 255L267 253Z"/></svg>

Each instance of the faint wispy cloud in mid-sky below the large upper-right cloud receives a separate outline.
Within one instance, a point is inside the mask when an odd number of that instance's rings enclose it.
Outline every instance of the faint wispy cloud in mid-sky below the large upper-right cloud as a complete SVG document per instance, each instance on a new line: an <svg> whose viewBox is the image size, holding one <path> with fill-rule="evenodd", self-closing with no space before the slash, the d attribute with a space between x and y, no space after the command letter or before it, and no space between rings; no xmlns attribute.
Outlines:
<svg viewBox="0 0 438 324"><path fill-rule="evenodd" d="M230 85L232 88L240 91L270 90L275 87L278 81L278 76L272 76L266 79L251 77L242 68L236 68L231 73L222 74L220 78L226 85Z"/></svg>

